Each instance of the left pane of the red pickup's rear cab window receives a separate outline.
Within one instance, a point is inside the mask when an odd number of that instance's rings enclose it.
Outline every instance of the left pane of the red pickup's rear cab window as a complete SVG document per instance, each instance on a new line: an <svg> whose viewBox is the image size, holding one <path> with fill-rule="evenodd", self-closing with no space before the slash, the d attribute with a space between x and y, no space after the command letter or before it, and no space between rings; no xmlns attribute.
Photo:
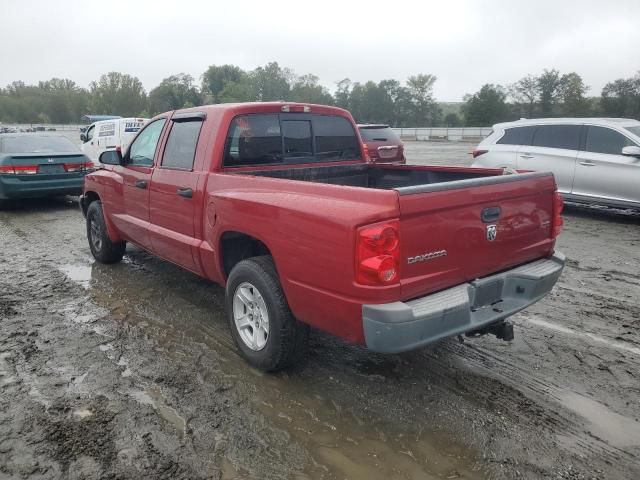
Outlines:
<svg viewBox="0 0 640 480"><path fill-rule="evenodd" d="M225 166L282 162L282 136L278 115L234 118L225 145Z"/></svg>

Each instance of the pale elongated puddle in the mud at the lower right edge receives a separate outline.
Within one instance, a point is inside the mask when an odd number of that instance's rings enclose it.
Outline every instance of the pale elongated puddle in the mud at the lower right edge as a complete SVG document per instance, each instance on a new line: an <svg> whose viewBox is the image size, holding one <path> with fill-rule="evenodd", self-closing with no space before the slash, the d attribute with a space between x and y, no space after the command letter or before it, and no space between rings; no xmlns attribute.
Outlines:
<svg viewBox="0 0 640 480"><path fill-rule="evenodd" d="M565 408L584 417L592 435L618 448L640 446L640 422L574 392L564 392L558 397Z"/></svg>

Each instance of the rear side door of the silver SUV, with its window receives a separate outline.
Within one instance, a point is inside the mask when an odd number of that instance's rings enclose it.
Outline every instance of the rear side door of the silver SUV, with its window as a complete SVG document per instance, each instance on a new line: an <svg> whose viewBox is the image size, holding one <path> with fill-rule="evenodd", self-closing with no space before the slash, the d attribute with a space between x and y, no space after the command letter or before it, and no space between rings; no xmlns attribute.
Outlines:
<svg viewBox="0 0 640 480"><path fill-rule="evenodd" d="M553 172L558 190L571 193L582 125L538 125L531 146L518 150L518 169Z"/></svg>

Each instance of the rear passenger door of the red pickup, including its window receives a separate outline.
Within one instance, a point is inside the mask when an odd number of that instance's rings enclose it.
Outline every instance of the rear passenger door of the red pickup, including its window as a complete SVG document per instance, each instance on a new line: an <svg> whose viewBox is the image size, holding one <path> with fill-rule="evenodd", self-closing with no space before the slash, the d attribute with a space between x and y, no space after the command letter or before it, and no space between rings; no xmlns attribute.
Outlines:
<svg viewBox="0 0 640 480"><path fill-rule="evenodd" d="M200 272L199 227L203 193L198 178L204 165L206 141L199 142L205 116L199 112L174 115L161 158L150 185L150 236L154 253L193 272Z"/></svg>

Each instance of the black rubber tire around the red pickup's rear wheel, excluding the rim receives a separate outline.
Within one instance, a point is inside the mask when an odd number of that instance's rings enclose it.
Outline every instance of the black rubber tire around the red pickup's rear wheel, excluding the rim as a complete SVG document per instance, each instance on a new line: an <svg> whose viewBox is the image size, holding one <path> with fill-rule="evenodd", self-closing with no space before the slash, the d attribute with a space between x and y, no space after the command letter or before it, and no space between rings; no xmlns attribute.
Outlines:
<svg viewBox="0 0 640 480"><path fill-rule="evenodd" d="M254 350L245 343L234 319L236 289L247 282L258 290L269 315L269 333L260 350ZM233 267L227 282L225 303L231 336L251 366L275 372L301 363L309 339L309 327L297 321L291 313L270 256L242 260Z"/></svg>

